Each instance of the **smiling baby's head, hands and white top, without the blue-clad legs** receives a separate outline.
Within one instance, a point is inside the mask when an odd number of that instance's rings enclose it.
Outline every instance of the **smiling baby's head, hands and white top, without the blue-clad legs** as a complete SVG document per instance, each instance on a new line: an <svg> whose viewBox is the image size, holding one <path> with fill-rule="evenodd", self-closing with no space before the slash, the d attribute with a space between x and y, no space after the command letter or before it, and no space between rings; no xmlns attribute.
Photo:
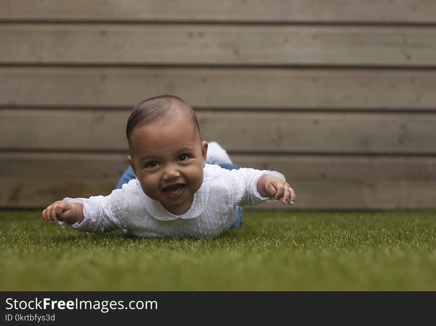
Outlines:
<svg viewBox="0 0 436 326"><path fill-rule="evenodd" d="M276 201L293 205L295 193L282 174L206 164L194 110L162 95L135 106L127 121L136 175L108 196L64 198L43 210L49 223L104 233L121 228L140 237L217 237L235 222L238 205Z"/></svg>

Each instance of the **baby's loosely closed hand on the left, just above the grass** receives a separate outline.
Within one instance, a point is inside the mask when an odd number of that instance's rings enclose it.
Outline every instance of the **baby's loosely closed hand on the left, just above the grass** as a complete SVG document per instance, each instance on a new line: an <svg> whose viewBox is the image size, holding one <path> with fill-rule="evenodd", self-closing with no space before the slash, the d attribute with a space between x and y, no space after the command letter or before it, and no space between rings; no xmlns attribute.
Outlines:
<svg viewBox="0 0 436 326"><path fill-rule="evenodd" d="M80 207L79 207L80 206ZM43 219L48 223L62 221L74 224L83 221L83 206L78 203L57 200L43 210Z"/></svg>

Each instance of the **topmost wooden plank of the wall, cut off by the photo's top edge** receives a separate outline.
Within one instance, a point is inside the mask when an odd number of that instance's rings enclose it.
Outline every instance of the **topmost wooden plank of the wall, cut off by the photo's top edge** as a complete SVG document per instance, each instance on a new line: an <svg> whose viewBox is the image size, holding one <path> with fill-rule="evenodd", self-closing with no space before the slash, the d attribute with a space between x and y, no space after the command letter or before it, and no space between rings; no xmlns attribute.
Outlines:
<svg viewBox="0 0 436 326"><path fill-rule="evenodd" d="M433 0L0 0L1 20L434 23Z"/></svg>

